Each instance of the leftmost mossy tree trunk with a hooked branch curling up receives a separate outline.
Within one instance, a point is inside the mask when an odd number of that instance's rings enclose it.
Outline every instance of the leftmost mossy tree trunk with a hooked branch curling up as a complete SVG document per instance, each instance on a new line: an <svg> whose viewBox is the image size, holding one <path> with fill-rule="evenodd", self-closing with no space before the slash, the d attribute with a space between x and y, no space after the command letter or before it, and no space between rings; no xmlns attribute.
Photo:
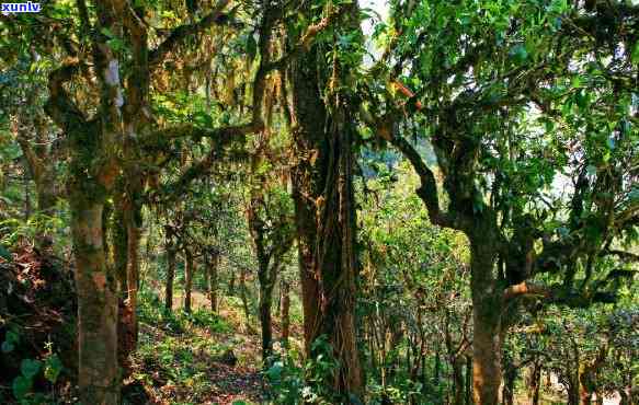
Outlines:
<svg viewBox="0 0 639 405"><path fill-rule="evenodd" d="M102 26L111 11L99 8ZM116 31L114 28L114 31ZM49 76L47 114L62 128L69 144L68 198L78 293L78 385L82 404L119 403L116 277L104 250L104 205L118 173L116 159L122 121L119 66L105 36L98 36L95 72L101 84L99 118L88 120L64 83L79 70L67 63ZM96 39L96 40L98 40Z"/></svg>

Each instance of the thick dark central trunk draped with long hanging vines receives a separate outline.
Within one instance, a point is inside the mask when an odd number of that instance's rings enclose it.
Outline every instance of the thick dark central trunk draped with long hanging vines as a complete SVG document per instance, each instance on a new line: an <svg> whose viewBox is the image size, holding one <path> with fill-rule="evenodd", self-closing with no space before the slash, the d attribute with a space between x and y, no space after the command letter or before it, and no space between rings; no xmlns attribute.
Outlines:
<svg viewBox="0 0 639 405"><path fill-rule="evenodd" d="M323 84L318 83L328 69L316 70L322 59L323 53L313 48L290 66L292 132L299 157L292 169L293 199L306 352L315 356L312 343L327 336L340 363L333 390L343 398L361 395L364 385L355 327L354 128L344 106L328 116L319 92Z"/></svg>

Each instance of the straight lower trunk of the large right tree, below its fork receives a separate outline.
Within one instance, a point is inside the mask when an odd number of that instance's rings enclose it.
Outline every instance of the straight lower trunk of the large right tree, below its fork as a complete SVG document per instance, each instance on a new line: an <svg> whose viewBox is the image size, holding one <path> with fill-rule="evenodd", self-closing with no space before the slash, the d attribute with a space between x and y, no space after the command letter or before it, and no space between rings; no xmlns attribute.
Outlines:
<svg viewBox="0 0 639 405"><path fill-rule="evenodd" d="M472 291L472 387L476 404L498 404L501 385L502 291L494 277L497 250L490 232L470 240ZM479 242L481 241L481 242Z"/></svg>

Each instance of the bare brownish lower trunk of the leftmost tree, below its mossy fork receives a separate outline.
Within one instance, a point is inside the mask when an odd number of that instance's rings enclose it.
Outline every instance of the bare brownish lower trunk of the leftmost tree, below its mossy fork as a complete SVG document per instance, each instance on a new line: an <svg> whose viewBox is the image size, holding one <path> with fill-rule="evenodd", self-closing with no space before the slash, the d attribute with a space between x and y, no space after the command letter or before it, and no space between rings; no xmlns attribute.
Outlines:
<svg viewBox="0 0 639 405"><path fill-rule="evenodd" d="M103 251L103 204L70 198L78 290L78 384L82 404L117 404L117 300Z"/></svg>

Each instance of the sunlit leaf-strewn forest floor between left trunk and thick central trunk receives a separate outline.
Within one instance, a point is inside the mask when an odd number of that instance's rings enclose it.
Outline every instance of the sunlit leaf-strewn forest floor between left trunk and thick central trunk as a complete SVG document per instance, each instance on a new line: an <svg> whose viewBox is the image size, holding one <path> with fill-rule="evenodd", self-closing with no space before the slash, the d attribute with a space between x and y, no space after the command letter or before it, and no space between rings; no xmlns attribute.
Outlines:
<svg viewBox="0 0 639 405"><path fill-rule="evenodd" d="M193 312L182 311L176 294L173 315L144 299L139 346L124 396L129 404L256 404L264 398L260 339L247 327L241 304L225 298L219 315L206 297L193 293Z"/></svg>

